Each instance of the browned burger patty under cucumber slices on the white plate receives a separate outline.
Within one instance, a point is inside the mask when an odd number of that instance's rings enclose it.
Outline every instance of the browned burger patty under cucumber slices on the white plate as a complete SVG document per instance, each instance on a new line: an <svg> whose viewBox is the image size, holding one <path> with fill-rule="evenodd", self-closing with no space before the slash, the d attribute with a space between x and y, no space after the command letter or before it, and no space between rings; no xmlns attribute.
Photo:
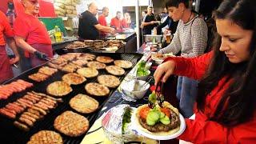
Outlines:
<svg viewBox="0 0 256 144"><path fill-rule="evenodd" d="M170 110L170 124L164 125L162 122L156 123L154 126L149 126L146 124L146 119L138 117L139 123L144 127L146 130L150 130L151 132L162 132L162 131L170 131L175 129L180 125L180 121L178 118L178 114L174 113L173 110Z"/></svg>

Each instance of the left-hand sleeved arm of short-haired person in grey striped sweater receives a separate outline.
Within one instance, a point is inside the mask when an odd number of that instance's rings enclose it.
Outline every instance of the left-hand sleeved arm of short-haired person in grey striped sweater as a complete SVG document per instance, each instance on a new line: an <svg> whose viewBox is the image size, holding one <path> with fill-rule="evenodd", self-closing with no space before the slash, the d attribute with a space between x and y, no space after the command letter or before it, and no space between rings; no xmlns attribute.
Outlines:
<svg viewBox="0 0 256 144"><path fill-rule="evenodd" d="M170 45L166 46L165 48L159 50L160 54L167 54L167 53L173 53L178 54L178 52L182 50L181 41L179 39L179 30L176 31L174 34L173 40L170 42Z"/></svg>

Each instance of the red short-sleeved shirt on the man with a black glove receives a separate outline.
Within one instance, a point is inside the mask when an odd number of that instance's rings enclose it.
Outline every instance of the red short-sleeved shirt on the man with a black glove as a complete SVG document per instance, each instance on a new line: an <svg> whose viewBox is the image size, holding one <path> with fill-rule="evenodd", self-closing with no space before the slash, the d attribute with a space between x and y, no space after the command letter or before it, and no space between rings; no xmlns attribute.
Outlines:
<svg viewBox="0 0 256 144"><path fill-rule="evenodd" d="M46 26L38 18L30 14L18 16L14 22L14 34L26 39L28 44L51 45Z"/></svg>

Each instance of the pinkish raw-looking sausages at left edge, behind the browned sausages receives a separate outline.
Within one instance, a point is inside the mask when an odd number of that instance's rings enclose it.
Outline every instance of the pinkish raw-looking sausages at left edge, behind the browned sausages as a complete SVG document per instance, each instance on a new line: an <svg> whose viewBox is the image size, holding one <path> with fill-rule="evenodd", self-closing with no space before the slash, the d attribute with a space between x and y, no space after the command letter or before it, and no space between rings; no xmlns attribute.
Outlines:
<svg viewBox="0 0 256 144"><path fill-rule="evenodd" d="M21 92L32 86L33 83L26 82L22 79L18 79L10 84L2 85L0 86L0 100L9 98L12 94Z"/></svg>

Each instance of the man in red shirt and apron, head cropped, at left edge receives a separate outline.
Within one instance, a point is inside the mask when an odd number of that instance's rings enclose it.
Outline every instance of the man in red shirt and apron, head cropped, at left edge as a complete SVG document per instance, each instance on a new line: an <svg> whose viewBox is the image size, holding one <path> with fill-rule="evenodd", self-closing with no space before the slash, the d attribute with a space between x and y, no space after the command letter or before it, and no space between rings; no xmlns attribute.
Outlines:
<svg viewBox="0 0 256 144"><path fill-rule="evenodd" d="M9 60L6 54L6 42L14 51L15 58ZM10 24L6 15L0 11L0 83L13 77L13 71L10 65L18 62L18 50L14 42L14 33L10 28Z"/></svg>

